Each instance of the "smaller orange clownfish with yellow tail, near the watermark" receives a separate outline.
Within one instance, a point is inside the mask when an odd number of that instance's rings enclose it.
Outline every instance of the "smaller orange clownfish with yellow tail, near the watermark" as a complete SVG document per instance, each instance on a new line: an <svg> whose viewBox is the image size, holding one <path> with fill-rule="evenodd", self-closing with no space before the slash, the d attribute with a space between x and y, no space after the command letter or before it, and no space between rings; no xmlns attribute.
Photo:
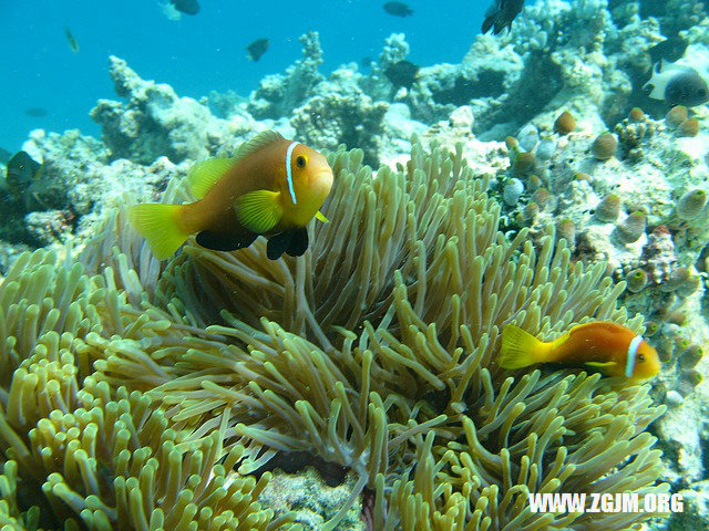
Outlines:
<svg viewBox="0 0 709 531"><path fill-rule="evenodd" d="M502 331L500 366L522 368L535 363L587 365L633 382L651 378L660 371L657 351L643 336L616 323L579 324L551 342L507 324Z"/></svg>

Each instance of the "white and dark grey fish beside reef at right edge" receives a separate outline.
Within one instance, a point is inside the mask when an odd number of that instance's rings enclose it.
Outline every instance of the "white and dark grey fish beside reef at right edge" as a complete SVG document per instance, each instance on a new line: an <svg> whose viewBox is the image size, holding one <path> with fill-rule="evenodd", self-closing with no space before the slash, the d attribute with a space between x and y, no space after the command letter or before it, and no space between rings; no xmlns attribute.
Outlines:
<svg viewBox="0 0 709 531"><path fill-rule="evenodd" d="M696 107L709 101L706 80L691 66L660 61L653 70L653 77L643 88L653 87L649 97L665 100L668 105Z"/></svg>

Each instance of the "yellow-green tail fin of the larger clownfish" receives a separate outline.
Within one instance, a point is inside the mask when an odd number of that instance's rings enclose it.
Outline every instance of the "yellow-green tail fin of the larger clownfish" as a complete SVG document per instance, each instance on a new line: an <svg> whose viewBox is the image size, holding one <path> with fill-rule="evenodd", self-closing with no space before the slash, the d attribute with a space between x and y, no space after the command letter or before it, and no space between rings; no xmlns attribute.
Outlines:
<svg viewBox="0 0 709 531"><path fill-rule="evenodd" d="M151 202L129 209L129 219L158 260L173 254L189 237L181 223L182 205Z"/></svg>

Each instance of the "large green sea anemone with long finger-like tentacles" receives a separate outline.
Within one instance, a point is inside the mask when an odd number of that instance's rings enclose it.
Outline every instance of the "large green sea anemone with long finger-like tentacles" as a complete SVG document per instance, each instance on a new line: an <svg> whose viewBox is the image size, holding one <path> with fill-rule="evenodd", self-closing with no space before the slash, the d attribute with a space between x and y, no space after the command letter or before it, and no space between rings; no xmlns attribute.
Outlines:
<svg viewBox="0 0 709 531"><path fill-rule="evenodd" d="M648 387L495 362L507 323L542 339L590 319L641 332L616 308L625 283L572 262L554 229L538 248L526 229L510 240L461 146L412 145L376 176L361 150L330 154L330 222L310 226L298 259L191 240L161 266L122 212L84 266L24 256L0 285L0 519L296 529L257 500L269 473L249 476L294 450L357 477L321 529L366 488L386 531L646 519L532 513L527 494L666 490ZM186 194L174 181L164 200Z"/></svg>

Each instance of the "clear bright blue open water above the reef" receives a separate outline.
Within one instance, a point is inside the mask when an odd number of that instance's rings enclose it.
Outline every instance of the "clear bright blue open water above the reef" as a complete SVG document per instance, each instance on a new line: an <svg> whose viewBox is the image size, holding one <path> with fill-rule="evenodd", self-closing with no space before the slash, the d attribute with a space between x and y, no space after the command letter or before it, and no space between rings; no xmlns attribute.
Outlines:
<svg viewBox="0 0 709 531"><path fill-rule="evenodd" d="M490 0L492 1L492 0ZM201 12L168 20L157 0L3 0L0 2L0 147L14 152L38 127L80 128L100 136L89 111L96 100L116 98L107 75L110 54L125 59L142 77L168 83L179 95L215 90L247 96L267 74L300 58L298 37L320 33L322 72L377 58L383 40L403 32L410 60L421 65L458 63L480 33L490 1L413 0L412 17L387 14L383 1L199 0ZM80 51L70 50L66 25ZM268 38L254 63L245 48ZM32 117L30 107L48 115Z"/></svg>

